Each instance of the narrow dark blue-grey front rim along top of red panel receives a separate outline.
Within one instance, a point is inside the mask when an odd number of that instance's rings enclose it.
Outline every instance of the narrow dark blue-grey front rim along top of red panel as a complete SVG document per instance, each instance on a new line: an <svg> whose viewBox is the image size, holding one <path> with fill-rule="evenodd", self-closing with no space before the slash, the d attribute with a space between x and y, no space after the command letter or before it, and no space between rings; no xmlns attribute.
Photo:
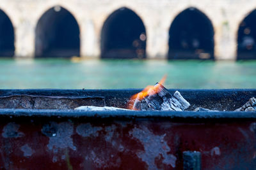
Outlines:
<svg viewBox="0 0 256 170"><path fill-rule="evenodd" d="M93 117L93 118L182 118L182 119L256 119L256 112L242 111L76 111L0 109L0 117Z"/></svg>

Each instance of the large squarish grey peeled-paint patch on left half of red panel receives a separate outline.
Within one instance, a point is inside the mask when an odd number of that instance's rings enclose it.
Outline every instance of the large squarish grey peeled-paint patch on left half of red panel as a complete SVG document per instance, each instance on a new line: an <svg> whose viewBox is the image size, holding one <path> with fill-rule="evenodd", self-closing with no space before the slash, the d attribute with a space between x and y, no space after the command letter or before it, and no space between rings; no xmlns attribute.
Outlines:
<svg viewBox="0 0 256 170"><path fill-rule="evenodd" d="M56 136L49 137L49 144L47 145L49 150L56 149L56 152L58 151L58 148L70 148L72 150L76 150L76 146L73 145L73 139L71 138L74 131L73 124L70 122L62 122L60 124L51 122L51 124L53 124L57 129Z"/></svg>

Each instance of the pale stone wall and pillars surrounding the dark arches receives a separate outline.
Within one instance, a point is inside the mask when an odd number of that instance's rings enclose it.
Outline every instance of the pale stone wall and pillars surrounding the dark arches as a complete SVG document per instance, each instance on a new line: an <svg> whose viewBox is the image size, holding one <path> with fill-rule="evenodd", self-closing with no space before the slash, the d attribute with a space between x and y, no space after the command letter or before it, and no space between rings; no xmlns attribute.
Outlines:
<svg viewBox="0 0 256 170"><path fill-rule="evenodd" d="M99 57L100 31L108 16L118 8L133 10L147 31L147 57L167 57L168 32L181 11L195 7L207 15L214 27L216 59L236 59L239 24L256 7L253 0L2 0L0 9L15 29L15 56L33 57L35 27L45 11L53 6L66 8L77 20L81 56Z"/></svg>

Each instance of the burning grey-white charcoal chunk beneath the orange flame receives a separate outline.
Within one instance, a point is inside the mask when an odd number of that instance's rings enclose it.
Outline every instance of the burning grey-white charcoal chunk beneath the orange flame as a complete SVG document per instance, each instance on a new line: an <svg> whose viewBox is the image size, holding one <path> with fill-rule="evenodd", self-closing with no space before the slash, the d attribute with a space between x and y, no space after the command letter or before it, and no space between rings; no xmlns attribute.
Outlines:
<svg viewBox="0 0 256 170"><path fill-rule="evenodd" d="M190 106L188 101L178 91L172 96L163 85L156 83L155 87L157 85L159 87L157 89L150 89L148 96L143 99L141 99L141 94L138 94L133 104L133 110L184 111Z"/></svg>

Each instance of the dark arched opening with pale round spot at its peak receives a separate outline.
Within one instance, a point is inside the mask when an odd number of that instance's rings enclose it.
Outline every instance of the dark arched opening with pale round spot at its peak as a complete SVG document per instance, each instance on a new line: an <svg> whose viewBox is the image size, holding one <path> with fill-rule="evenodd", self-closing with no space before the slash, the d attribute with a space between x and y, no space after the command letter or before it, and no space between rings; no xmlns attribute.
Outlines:
<svg viewBox="0 0 256 170"><path fill-rule="evenodd" d="M36 25L35 57L72 57L80 54L79 26L61 6L46 11Z"/></svg>

